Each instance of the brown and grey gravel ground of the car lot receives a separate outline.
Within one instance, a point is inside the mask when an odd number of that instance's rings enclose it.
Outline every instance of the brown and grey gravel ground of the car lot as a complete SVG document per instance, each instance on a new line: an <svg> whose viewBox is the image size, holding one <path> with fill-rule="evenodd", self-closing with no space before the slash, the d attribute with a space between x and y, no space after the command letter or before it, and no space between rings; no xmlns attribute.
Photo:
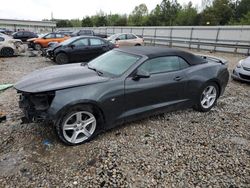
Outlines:
<svg viewBox="0 0 250 188"><path fill-rule="evenodd" d="M205 53L205 52L204 52ZM215 53L232 71L243 56ZM42 57L0 59L0 83L15 83ZM52 125L21 124L14 89L0 93L0 187L250 187L250 85L229 82L208 113L192 109L125 124L76 146Z"/></svg>

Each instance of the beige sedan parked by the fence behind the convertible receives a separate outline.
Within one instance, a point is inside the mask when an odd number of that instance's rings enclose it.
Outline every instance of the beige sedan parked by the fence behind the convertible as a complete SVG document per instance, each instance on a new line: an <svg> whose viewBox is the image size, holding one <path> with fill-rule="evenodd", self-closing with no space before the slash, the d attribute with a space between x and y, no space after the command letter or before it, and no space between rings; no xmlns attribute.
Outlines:
<svg viewBox="0 0 250 188"><path fill-rule="evenodd" d="M144 39L133 33L118 33L107 38L118 46L143 46Z"/></svg>

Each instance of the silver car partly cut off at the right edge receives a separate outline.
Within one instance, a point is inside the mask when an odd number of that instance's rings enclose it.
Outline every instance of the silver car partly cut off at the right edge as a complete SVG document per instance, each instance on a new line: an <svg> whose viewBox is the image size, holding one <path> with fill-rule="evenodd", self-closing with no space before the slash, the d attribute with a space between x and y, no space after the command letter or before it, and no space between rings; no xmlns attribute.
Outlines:
<svg viewBox="0 0 250 188"><path fill-rule="evenodd" d="M250 56L239 61L233 70L232 78L234 80L250 82Z"/></svg>

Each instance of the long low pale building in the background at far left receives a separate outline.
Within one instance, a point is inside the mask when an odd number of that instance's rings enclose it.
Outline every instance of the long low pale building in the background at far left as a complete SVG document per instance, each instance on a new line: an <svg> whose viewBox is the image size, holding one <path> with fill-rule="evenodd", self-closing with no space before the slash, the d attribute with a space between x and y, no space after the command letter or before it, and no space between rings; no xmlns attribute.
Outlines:
<svg viewBox="0 0 250 188"><path fill-rule="evenodd" d="M56 28L56 22L0 19L0 28L12 31L28 30L36 33L46 33L51 32Z"/></svg>

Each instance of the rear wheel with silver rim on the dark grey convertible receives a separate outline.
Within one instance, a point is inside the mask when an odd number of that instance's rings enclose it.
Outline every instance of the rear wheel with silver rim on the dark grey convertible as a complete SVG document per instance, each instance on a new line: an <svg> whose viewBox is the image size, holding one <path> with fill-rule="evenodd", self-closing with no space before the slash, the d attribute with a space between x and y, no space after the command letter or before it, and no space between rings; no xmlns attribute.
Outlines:
<svg viewBox="0 0 250 188"><path fill-rule="evenodd" d="M197 104L194 109L199 112L208 112L217 102L219 97L219 88L216 83L207 83L199 93Z"/></svg>

